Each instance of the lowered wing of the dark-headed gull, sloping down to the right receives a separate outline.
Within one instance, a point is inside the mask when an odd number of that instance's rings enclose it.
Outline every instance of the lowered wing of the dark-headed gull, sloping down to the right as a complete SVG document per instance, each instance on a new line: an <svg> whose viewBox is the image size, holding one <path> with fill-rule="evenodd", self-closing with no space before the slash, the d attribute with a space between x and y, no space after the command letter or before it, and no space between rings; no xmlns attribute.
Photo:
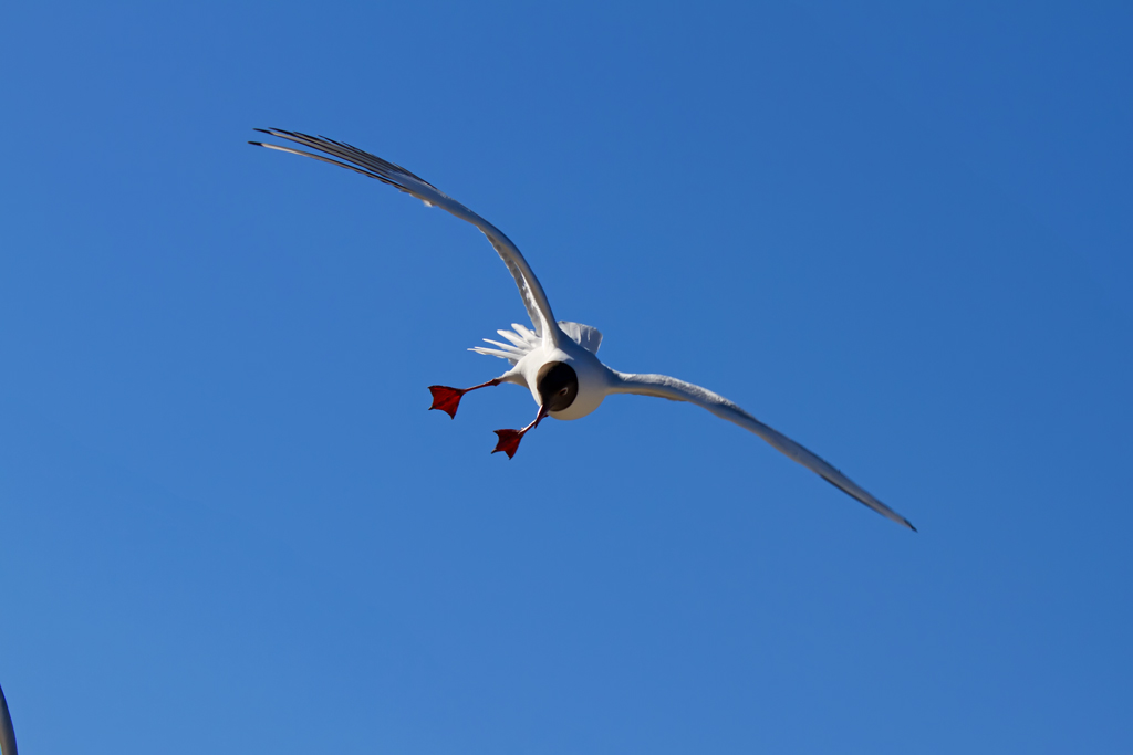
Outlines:
<svg viewBox="0 0 1133 755"><path fill-rule="evenodd" d="M817 473L835 488L869 506L881 516L891 518L897 524L903 524L913 532L917 531L917 527L910 524L909 520L862 490L858 483L836 470L821 456L803 448L782 432L767 427L727 398L701 388L698 385L678 380L665 375L627 375L624 372L614 372L614 375L617 378L617 383L611 388L613 393L658 396L661 398L668 398L670 401L688 401L698 406L704 406L716 417L725 419L729 422L734 422L744 430L755 432L769 443L776 451L782 452L792 461Z"/></svg>

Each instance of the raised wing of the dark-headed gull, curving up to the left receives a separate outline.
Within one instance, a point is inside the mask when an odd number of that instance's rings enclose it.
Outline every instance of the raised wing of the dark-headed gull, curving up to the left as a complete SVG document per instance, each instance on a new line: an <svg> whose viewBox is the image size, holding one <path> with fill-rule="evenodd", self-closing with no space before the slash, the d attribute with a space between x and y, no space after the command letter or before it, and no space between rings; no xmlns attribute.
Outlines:
<svg viewBox="0 0 1133 755"><path fill-rule="evenodd" d="M535 273L531 272L531 267L527 264L527 260L523 259L523 255L520 254L519 248L516 247L516 244L511 242L511 239L505 237L500 229L492 225L452 197L445 195L428 181L414 175L404 168L394 165L393 163L386 162L381 157L376 157L368 152L363 152L357 147L351 147L349 144L334 141L333 139L327 139L321 136L308 136L306 134L300 134L299 131L284 131L282 129L274 128L257 128L256 130L261 134L267 134L269 136L301 144L305 147L310 147L312 149L317 149L318 152L325 154L316 155L301 149L284 147L278 144L265 144L263 141L249 141L248 144L254 144L257 147L266 147L269 149L279 149L280 152L290 152L293 155L314 157L315 160L321 160L324 163L339 165L341 168L361 173L363 175L375 178L383 183L389 183L406 194L417 197L431 207L441 207L460 220L471 223L478 228L484 235L488 238L488 241L492 242L492 246L500 255L503 264L508 266L508 269L516 278L516 285L519 286L519 293L523 298L523 307L527 308L527 315L531 318L535 332L543 337L550 337L555 345L559 344L559 328L555 327L555 318L554 315L551 314L551 304L547 302L547 294L543 292L543 286L539 285L538 278L535 277Z"/></svg>

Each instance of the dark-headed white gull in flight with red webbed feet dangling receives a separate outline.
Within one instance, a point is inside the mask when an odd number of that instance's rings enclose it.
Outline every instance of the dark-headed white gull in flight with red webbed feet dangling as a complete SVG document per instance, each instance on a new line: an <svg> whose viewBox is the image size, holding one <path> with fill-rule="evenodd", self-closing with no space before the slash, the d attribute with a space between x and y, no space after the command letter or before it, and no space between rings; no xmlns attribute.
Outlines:
<svg viewBox="0 0 1133 755"><path fill-rule="evenodd" d="M394 165L342 141L282 129L256 129L256 131L315 152L264 141L249 141L248 144L313 157L377 179L382 183L389 183L395 189L417 197L427 207L440 207L460 220L471 223L487 237L503 264L508 266L512 277L516 278L516 285L519 288L523 307L527 309L534 329L512 324L511 331L496 331L506 343L484 338L491 348L470 349L479 354L505 359L511 364L511 369L500 377L469 388L429 386L429 392L433 394L433 405L429 409L443 411L455 419L460 400L470 391L505 383L530 391L531 397L535 398L535 403L539 407L538 413L530 424L520 430L496 430L499 440L493 454L503 452L511 458L519 449L523 437L547 417L556 420L580 419L596 410L606 396L613 394L629 393L657 396L670 401L684 401L707 409L716 417L756 434L776 451L802 464L881 516L893 520L913 532L917 531L909 520L868 494L820 456L782 432L764 424L727 398L707 388L665 375L619 372L603 364L597 357L598 346L602 344L602 333L589 325L556 320L551 311L547 294L543 291L543 285L535 277L535 273L531 272L530 265L527 264L527 259L523 258L519 248L500 229L425 179L414 175L400 165Z"/></svg>

